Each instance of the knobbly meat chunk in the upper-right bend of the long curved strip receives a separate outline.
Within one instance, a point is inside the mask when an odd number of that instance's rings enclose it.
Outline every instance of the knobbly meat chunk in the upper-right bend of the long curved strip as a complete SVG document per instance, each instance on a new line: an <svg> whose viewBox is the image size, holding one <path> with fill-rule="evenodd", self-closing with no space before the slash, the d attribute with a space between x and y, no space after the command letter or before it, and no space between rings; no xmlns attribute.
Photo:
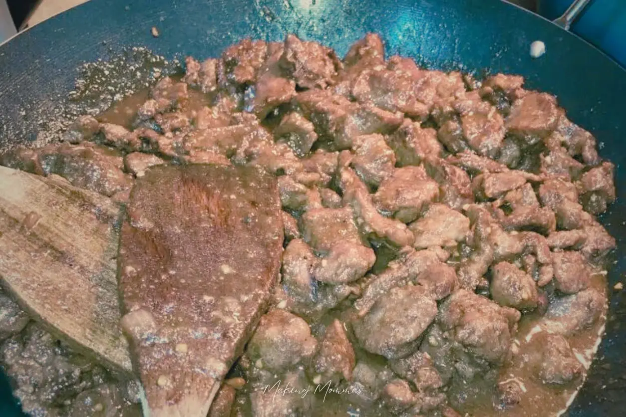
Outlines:
<svg viewBox="0 0 626 417"><path fill-rule="evenodd" d="M439 184L426 175L421 166L394 169L391 177L382 181L373 201L379 211L393 213L403 223L418 218L422 209L439 198Z"/></svg>

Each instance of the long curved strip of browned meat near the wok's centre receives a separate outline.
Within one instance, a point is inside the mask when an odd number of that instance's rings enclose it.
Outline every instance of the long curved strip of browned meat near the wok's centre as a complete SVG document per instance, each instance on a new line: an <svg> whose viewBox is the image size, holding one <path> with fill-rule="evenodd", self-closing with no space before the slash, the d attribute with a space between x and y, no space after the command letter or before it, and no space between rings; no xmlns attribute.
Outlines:
<svg viewBox="0 0 626 417"><path fill-rule="evenodd" d="M368 239L386 240L399 248L413 244L413 233L405 224L383 217L376 211L366 186L354 171L342 169L340 176L344 202L352 208L356 224L364 236Z"/></svg>

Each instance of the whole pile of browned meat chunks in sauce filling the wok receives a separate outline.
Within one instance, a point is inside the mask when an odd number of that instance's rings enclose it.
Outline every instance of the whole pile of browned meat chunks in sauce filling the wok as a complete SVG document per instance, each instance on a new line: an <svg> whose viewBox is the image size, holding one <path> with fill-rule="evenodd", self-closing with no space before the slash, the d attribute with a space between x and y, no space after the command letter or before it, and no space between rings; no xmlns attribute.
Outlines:
<svg viewBox="0 0 626 417"><path fill-rule="evenodd" d="M385 60L376 34L344 59L293 35L245 39L187 58L139 108L81 116L59 143L0 163L120 204L157 164L278 177L280 283L210 416L554 413L582 383L605 313L598 272L615 240L594 216L615 199L614 166L523 81ZM136 413L97 365L70 366L33 325L16 334L19 314L0 329L0 359L36 415ZM57 356L29 347L42 338ZM68 362L54 365L56 390L22 364L48 358ZM88 383L64 389L81 366ZM274 395L277 381L336 391ZM84 401L98 390L120 392Z"/></svg>

